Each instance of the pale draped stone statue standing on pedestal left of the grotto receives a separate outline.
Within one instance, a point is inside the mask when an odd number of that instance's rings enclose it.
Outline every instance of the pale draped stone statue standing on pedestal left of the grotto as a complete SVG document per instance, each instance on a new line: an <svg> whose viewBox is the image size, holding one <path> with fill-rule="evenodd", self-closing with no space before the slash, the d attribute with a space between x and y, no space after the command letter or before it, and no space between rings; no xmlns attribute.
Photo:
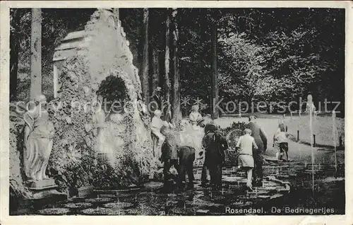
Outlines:
<svg viewBox="0 0 353 225"><path fill-rule="evenodd" d="M25 113L25 140L23 165L28 180L49 179L45 174L52 152L54 125L49 121L45 109L47 99L41 95L35 98L35 108Z"/></svg>

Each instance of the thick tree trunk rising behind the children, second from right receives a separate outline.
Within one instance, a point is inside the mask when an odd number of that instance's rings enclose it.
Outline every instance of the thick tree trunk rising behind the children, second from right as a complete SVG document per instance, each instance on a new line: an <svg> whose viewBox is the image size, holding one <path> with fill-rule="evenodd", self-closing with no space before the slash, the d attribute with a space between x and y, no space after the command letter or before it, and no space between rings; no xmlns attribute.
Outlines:
<svg viewBox="0 0 353 225"><path fill-rule="evenodd" d="M172 122L179 125L181 121L180 110L180 74L179 74L179 57L178 57L178 38L179 30L177 24L177 8L173 9L173 89L172 89Z"/></svg>

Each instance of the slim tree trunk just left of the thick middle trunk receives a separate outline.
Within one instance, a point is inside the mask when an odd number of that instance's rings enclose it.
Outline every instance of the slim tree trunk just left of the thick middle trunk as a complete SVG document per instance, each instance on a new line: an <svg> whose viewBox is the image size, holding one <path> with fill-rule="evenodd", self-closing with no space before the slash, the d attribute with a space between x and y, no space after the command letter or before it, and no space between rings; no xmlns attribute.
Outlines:
<svg viewBox="0 0 353 225"><path fill-rule="evenodd" d="M165 21L165 52L164 52L164 101L170 102L170 80L169 80L169 24L170 15L167 10L167 18Z"/></svg>

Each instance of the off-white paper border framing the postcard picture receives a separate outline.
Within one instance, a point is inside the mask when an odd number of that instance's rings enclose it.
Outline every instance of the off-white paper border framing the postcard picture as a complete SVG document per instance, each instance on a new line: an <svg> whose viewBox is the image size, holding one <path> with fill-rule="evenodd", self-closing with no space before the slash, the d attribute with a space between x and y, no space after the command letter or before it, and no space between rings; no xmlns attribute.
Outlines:
<svg viewBox="0 0 353 225"><path fill-rule="evenodd" d="M352 1L1 1L0 64L0 224L353 224L352 89L353 4ZM8 216L8 96L9 96L9 8L345 8L345 216ZM334 74L333 74L334 75Z"/></svg>

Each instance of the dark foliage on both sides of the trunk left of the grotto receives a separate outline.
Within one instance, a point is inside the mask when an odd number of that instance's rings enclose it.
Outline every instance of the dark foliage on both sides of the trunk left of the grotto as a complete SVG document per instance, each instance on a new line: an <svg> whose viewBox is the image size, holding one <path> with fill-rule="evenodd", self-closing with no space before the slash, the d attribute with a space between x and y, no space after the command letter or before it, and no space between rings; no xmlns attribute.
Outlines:
<svg viewBox="0 0 353 225"><path fill-rule="evenodd" d="M20 14L20 21L13 21L13 13ZM42 90L48 100L53 93L52 58L55 47L70 32L83 30L85 23L95 9L55 8L42 9ZM19 40L18 58L18 100L29 100L30 93L30 8L11 8L11 34ZM75 16L72 16L75 15Z"/></svg>

